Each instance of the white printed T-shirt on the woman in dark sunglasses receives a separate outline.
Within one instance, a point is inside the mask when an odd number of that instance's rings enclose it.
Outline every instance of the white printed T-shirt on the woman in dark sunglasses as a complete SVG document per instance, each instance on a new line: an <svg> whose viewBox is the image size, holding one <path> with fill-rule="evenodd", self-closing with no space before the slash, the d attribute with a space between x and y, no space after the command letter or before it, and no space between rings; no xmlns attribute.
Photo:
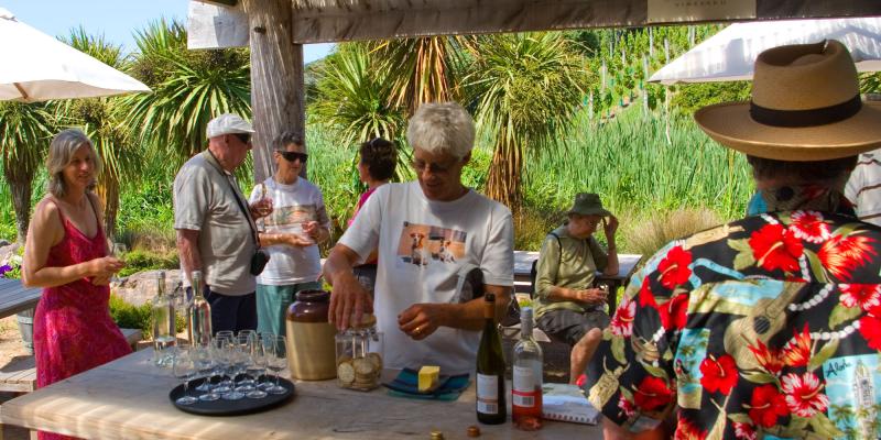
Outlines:
<svg viewBox="0 0 881 440"><path fill-rule="evenodd" d="M273 210L271 215L257 221L260 231L305 235L302 223L306 221L317 221L330 229L322 191L311 182L297 177L292 185L284 185L270 177L263 184L254 186L250 199L252 204L262 197L263 185L265 196L272 199ZM265 249L270 260L263 273L257 277L258 284L285 286L318 279L322 263L317 245L297 248L276 244Z"/></svg>

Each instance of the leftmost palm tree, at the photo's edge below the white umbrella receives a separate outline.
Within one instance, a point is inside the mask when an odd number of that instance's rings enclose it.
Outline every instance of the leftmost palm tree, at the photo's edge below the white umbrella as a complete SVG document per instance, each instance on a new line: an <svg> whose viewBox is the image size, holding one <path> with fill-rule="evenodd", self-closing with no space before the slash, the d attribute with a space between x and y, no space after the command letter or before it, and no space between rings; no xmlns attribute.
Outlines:
<svg viewBox="0 0 881 440"><path fill-rule="evenodd" d="M12 193L17 241L24 243L31 221L34 176L55 131L44 103L0 102L0 156Z"/></svg>

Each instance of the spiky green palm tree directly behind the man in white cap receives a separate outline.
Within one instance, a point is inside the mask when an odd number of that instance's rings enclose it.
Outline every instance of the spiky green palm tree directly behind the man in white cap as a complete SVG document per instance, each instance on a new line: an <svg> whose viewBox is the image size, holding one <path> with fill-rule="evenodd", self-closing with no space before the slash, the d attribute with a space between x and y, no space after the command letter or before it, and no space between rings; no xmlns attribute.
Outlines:
<svg viewBox="0 0 881 440"><path fill-rule="evenodd" d="M177 168L206 145L205 127L220 113L251 113L251 74L247 50L187 51L186 30L173 21L138 32L131 74L153 94L126 98L128 122L152 153ZM240 168L241 173L247 167Z"/></svg>

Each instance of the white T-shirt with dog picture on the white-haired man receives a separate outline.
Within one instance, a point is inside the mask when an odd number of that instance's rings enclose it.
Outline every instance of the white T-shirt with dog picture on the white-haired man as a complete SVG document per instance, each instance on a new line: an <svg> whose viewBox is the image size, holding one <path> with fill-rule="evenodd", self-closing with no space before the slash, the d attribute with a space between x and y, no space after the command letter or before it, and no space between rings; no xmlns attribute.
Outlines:
<svg viewBox="0 0 881 440"><path fill-rule="evenodd" d="M417 182L383 185L367 200L340 243L361 260L378 246L374 314L385 333L385 365L438 365L445 374L476 367L480 332L440 327L414 341L398 315L417 302L459 302L457 273L470 263L483 282L513 286L511 211L469 190L454 201L425 198Z"/></svg>

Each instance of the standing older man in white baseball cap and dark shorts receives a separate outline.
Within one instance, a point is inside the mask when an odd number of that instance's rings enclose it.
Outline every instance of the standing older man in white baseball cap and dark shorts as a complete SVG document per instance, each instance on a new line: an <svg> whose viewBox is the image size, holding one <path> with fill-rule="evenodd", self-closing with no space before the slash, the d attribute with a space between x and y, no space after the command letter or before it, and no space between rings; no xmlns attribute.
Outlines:
<svg viewBox="0 0 881 440"><path fill-rule="evenodd" d="M265 201L248 205L232 174L251 150L250 123L221 114L205 131L208 148L174 178L174 229L181 268L189 279L200 271L211 305L211 328L257 328L254 260L260 249L254 220L272 212ZM255 257L258 256L258 257Z"/></svg>

